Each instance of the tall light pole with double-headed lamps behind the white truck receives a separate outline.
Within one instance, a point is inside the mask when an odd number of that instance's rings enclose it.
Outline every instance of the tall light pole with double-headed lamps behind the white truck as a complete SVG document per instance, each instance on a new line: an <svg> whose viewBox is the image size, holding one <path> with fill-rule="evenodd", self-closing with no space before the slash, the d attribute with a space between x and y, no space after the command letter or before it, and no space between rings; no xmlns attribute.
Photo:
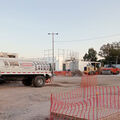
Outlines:
<svg viewBox="0 0 120 120"><path fill-rule="evenodd" d="M48 35L52 35L52 76L54 75L54 35L58 35L58 33L48 33Z"/></svg>

